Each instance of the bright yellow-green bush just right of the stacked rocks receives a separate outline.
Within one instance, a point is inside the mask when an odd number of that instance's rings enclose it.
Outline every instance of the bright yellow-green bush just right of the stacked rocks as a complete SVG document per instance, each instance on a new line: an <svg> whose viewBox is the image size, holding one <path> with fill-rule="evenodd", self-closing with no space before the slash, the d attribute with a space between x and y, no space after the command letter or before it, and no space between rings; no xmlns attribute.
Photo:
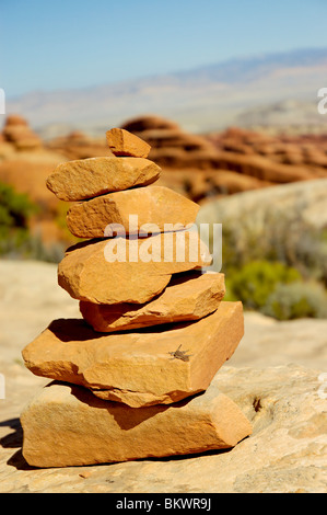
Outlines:
<svg viewBox="0 0 327 515"><path fill-rule="evenodd" d="M254 261L230 272L226 279L226 300L242 300L245 308L261 309L279 284L301 279L300 273L283 263Z"/></svg>

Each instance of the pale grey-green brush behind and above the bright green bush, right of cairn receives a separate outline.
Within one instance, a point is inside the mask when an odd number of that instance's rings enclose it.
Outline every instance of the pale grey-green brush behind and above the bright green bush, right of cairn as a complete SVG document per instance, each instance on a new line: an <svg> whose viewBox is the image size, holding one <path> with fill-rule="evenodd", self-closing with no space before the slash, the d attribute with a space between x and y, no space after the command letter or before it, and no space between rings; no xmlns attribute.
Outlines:
<svg viewBox="0 0 327 515"><path fill-rule="evenodd" d="M327 230L308 226L297 210L268 210L262 219L255 214L242 220L226 218L222 230L222 272L226 275L254 261L270 261L327 285Z"/></svg>

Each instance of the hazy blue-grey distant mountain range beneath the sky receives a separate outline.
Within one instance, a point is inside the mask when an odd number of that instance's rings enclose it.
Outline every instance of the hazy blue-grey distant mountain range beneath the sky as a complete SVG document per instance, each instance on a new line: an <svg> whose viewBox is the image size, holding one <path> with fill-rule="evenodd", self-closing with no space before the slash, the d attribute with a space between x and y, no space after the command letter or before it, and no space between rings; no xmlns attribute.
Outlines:
<svg viewBox="0 0 327 515"><path fill-rule="evenodd" d="M157 114L191 133L231 125L326 128L317 91L327 88L327 48L229 60L164 76L7 99L43 137L72 129L103 135L135 116Z"/></svg>

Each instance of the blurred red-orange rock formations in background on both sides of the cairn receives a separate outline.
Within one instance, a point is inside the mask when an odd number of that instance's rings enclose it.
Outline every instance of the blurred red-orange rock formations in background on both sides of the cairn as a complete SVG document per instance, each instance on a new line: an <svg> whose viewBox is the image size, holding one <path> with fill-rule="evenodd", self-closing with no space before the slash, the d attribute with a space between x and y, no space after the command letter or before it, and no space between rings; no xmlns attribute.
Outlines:
<svg viewBox="0 0 327 515"><path fill-rule="evenodd" d="M324 135L271 136L231 127L223 133L200 136L188 134L176 123L159 116L133 118L121 127L125 131L117 134L129 134L129 144L124 141L126 149L127 145L132 145L132 135L142 138L143 149L151 146L149 158L162 169L157 186L174 190L200 205L245 191L327 174ZM65 248L77 241L77 237L66 230L67 201L44 187L46 178L57 164L68 160L113 158L115 146L121 142L115 133L110 137L112 141L107 142L105 135L95 138L74 130L40 142L24 118L8 116L0 135L0 181L28 194L40 207L31 226L44 243L56 245L59 242ZM125 152L128 153L128 149ZM141 152L139 158L144 159L143 154Z"/></svg>

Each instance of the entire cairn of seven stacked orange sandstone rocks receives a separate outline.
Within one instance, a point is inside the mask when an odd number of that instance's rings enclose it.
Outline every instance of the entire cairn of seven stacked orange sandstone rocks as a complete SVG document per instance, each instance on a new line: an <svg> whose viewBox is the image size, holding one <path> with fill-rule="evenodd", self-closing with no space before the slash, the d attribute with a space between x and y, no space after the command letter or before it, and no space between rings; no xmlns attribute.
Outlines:
<svg viewBox="0 0 327 515"><path fill-rule="evenodd" d="M106 138L110 156L61 163L47 180L83 239L58 265L82 317L52 321L22 352L51 379L21 413L35 467L190 455L252 434L212 381L242 340L243 308L223 301L224 275L188 230L199 206L153 185L161 169L145 141L119 128Z"/></svg>

